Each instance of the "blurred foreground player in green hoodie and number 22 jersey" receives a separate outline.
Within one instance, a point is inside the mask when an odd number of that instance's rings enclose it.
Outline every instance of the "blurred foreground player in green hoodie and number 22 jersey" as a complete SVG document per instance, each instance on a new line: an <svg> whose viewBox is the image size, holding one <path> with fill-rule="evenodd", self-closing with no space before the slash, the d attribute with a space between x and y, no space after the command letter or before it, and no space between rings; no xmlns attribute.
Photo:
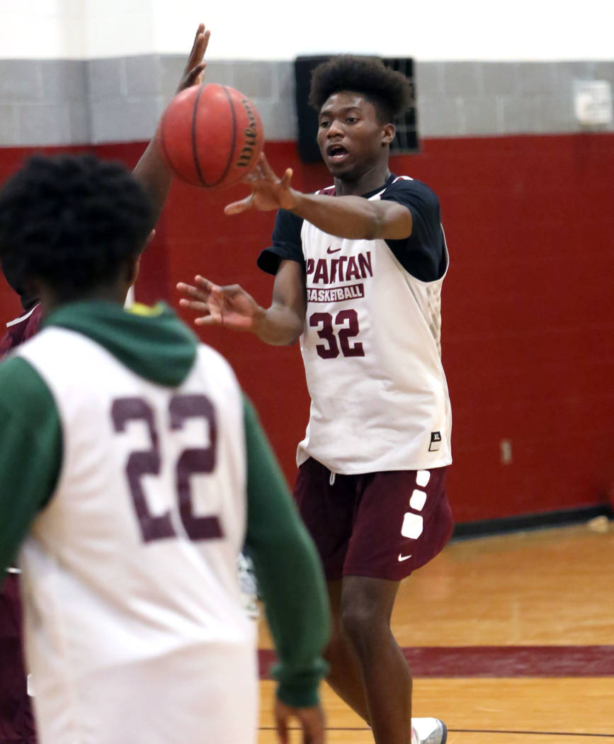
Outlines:
<svg viewBox="0 0 614 744"><path fill-rule="evenodd" d="M0 570L22 545L39 740L255 742L245 535L280 736L296 716L321 743L317 554L227 362L166 306L123 309L151 220L134 177L91 156L33 158L0 191L3 266L44 317L0 365Z"/></svg>

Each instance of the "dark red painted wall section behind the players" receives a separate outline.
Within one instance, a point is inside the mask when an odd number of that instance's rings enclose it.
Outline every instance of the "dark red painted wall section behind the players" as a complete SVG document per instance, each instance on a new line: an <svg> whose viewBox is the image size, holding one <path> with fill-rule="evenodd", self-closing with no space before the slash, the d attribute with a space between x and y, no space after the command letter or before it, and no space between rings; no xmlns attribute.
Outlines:
<svg viewBox="0 0 614 744"><path fill-rule="evenodd" d="M132 166L143 143L94 148ZM83 149L83 148L82 148ZM294 185L329 185L294 143L267 144ZM25 150L0 150L0 179ZM437 139L392 170L439 194L450 272L442 347L453 405L449 493L458 522L602 504L614 493L614 135ZM164 298L201 273L241 283L268 305L272 278L256 268L273 213L225 217L246 187L206 192L177 183L143 257L140 301ZM4 283L0 316L19 304ZM297 347L246 334L201 337L233 364L259 409L288 481L308 417ZM511 441L502 463L501 440Z"/></svg>

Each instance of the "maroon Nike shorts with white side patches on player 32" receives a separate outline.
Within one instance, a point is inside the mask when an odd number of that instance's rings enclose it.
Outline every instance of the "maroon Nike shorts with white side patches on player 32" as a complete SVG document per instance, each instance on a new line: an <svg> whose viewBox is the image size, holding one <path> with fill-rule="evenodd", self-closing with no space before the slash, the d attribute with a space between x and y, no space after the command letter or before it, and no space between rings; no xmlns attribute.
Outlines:
<svg viewBox="0 0 614 744"><path fill-rule="evenodd" d="M450 539L445 467L333 477L309 458L294 498L322 559L326 579L369 576L400 581Z"/></svg>

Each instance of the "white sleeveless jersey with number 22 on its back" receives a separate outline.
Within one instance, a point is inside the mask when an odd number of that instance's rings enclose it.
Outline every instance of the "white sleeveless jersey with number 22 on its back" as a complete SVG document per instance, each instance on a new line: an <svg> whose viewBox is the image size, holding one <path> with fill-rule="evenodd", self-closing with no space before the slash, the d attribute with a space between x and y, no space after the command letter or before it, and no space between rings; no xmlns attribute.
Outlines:
<svg viewBox="0 0 614 744"><path fill-rule="evenodd" d="M21 554L42 744L252 742L255 638L236 577L245 434L227 362L200 346L172 389L59 327L18 353L63 438Z"/></svg>

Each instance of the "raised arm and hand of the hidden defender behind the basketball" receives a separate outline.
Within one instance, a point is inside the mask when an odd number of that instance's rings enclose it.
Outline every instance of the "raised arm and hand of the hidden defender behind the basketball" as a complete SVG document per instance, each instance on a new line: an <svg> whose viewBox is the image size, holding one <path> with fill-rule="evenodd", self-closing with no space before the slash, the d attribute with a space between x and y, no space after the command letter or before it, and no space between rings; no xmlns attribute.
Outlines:
<svg viewBox="0 0 614 744"><path fill-rule="evenodd" d="M187 58L181 80L179 80L177 93L202 82L204 68L207 66L207 62L203 62L203 57L205 51L207 51L210 35L211 32L205 31L204 24L201 23L196 31L192 51L190 51L190 55ZM145 152L135 167L134 175L140 182L140 185L146 190L149 199L151 199L155 224L158 221L158 217L160 217L162 208L164 208L164 203L167 201L172 183L172 173L162 160L158 145L155 143L155 138L147 145Z"/></svg>

